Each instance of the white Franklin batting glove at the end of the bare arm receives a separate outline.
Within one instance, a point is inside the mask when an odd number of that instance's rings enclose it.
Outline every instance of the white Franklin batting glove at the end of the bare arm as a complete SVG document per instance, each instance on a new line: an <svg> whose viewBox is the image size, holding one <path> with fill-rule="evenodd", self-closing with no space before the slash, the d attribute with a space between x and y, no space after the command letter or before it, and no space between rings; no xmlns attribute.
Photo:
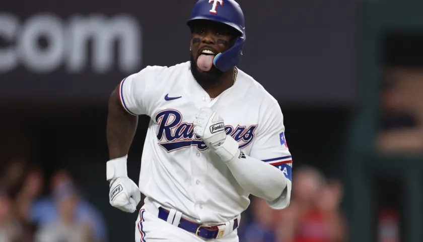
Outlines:
<svg viewBox="0 0 423 242"><path fill-rule="evenodd" d="M109 202L115 208L133 213L141 201L138 186L128 177L126 170L127 155L109 160L106 163L106 176L110 181Z"/></svg>

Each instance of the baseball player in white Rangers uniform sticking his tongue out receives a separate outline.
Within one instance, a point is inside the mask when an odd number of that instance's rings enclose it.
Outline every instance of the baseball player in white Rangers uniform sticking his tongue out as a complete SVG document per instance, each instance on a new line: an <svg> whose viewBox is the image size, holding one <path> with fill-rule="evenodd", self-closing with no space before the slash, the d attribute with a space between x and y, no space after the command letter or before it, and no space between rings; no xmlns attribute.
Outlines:
<svg viewBox="0 0 423 242"><path fill-rule="evenodd" d="M191 59L148 66L110 97L110 204L133 213L135 241L238 241L249 195L284 209L292 158L277 101L236 66L245 42L234 0L199 0L187 22ZM138 186L126 160L138 115L151 117Z"/></svg>

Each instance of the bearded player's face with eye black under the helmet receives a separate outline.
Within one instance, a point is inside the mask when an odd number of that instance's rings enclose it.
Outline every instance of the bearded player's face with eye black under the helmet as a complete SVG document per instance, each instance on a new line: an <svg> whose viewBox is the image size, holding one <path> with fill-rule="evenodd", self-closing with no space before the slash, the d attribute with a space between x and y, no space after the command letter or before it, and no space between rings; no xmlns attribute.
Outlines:
<svg viewBox="0 0 423 242"><path fill-rule="evenodd" d="M233 45L237 32L224 24L207 20L196 21L191 30L191 72L201 86L213 86L223 72L214 65L208 71L201 70L197 65L198 58L209 55L207 57L213 59L216 54L226 51Z"/></svg>

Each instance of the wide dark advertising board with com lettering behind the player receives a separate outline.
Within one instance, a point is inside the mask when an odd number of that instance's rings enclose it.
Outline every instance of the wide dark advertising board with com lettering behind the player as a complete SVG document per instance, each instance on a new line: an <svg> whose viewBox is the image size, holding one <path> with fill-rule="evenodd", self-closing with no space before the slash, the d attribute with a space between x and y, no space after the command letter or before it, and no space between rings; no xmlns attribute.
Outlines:
<svg viewBox="0 0 423 242"><path fill-rule="evenodd" d="M0 4L0 101L104 103L147 65L189 59L185 22L195 0L59 2ZM240 69L280 102L354 101L355 0L239 3Z"/></svg>

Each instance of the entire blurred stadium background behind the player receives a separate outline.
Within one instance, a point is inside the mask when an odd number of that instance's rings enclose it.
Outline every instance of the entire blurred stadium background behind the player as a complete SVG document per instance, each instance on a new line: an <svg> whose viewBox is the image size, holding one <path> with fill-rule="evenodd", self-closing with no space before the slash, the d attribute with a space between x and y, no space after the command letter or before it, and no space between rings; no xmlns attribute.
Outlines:
<svg viewBox="0 0 423 242"><path fill-rule="evenodd" d="M0 242L133 241L108 202L107 99L188 60L194 2L0 3ZM295 172L290 207L252 198L240 241L423 241L423 2L239 2L239 68L279 101Z"/></svg>

